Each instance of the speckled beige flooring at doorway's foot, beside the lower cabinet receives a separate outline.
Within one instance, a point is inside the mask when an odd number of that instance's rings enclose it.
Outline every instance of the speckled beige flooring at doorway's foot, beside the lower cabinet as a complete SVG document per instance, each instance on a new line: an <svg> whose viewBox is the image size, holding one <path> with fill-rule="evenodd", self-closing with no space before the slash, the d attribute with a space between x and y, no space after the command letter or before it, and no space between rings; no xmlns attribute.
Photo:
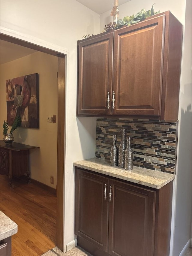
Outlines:
<svg viewBox="0 0 192 256"><path fill-rule="evenodd" d="M52 248L50 251L42 254L41 256L92 256L90 253L84 251L79 246L63 253L58 247Z"/></svg>

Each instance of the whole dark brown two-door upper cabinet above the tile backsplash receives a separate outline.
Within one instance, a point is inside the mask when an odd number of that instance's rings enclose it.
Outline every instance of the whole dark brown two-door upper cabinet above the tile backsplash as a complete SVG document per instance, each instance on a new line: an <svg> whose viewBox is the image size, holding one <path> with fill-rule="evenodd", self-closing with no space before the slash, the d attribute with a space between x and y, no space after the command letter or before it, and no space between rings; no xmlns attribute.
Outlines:
<svg viewBox="0 0 192 256"><path fill-rule="evenodd" d="M78 42L78 116L177 120L182 24L166 11Z"/></svg>

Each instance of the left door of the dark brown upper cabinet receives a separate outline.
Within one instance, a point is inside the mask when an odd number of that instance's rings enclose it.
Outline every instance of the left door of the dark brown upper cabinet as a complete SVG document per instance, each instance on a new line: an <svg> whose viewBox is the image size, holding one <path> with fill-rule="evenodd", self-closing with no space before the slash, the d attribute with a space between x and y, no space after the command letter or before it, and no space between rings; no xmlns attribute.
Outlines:
<svg viewBox="0 0 192 256"><path fill-rule="evenodd" d="M78 115L111 114L113 33L79 42Z"/></svg>

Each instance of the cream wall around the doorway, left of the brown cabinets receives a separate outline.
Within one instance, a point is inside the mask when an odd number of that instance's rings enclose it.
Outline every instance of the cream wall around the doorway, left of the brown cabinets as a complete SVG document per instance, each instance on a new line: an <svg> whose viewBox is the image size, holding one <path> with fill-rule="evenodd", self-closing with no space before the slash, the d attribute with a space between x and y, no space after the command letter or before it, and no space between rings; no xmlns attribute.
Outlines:
<svg viewBox="0 0 192 256"><path fill-rule="evenodd" d="M0 32L67 53L64 191L64 244L67 244L74 239L72 163L95 156L96 118L76 118L77 40L85 34L99 33L99 15L75 0L0 0Z"/></svg>

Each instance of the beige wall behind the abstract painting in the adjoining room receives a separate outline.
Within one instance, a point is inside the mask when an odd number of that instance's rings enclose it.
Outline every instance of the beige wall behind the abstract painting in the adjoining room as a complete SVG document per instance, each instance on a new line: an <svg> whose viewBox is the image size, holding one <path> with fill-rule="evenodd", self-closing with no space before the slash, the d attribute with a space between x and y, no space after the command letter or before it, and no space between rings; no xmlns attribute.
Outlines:
<svg viewBox="0 0 192 256"><path fill-rule="evenodd" d="M48 123L47 116L57 115L57 71L58 58L41 52L0 65L1 127L7 120L5 80L39 74L39 129L19 127L13 135L15 142L40 147L29 152L31 178L53 188L57 183L57 124ZM3 132L0 139L3 139ZM50 184L51 175L54 185Z"/></svg>

